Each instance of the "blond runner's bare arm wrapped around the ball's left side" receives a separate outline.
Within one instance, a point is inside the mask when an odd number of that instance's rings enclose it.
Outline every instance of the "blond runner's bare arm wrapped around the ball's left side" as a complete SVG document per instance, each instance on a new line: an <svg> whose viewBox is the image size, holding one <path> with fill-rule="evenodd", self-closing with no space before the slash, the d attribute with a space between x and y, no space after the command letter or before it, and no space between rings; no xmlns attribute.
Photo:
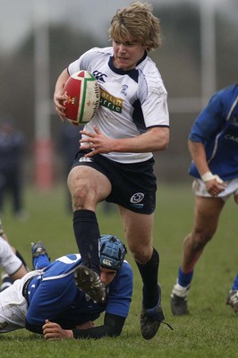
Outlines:
<svg viewBox="0 0 238 358"><path fill-rule="evenodd" d="M65 68L65 70L61 72L55 83L55 93L54 93L55 109L63 122L65 121L65 113L64 113L65 107L63 105L63 101L64 101L63 90L64 90L64 84L69 77L70 77L69 72Z"/></svg>

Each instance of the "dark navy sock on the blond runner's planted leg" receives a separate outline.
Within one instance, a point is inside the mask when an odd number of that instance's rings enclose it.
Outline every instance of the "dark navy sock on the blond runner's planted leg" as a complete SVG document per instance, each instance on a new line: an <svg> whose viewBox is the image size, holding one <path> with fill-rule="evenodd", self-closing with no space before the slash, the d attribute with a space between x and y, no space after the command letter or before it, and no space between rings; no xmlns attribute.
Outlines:
<svg viewBox="0 0 238 358"><path fill-rule="evenodd" d="M151 258L145 265L140 265L138 262L136 264L143 282L143 306L147 309L153 308L159 300L157 286L158 252L154 248Z"/></svg>

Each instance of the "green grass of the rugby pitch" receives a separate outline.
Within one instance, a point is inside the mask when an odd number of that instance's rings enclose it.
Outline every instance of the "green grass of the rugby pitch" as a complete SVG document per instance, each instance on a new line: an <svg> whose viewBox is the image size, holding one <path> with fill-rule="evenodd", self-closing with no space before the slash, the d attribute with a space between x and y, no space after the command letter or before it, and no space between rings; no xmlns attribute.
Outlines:
<svg viewBox="0 0 238 358"><path fill-rule="evenodd" d="M2 217L11 243L21 251L31 268L30 242L47 244L51 259L77 251L72 234L72 216L66 210L64 186L50 192L33 188L26 192L30 217L15 221L9 205ZM7 357L238 357L238 317L225 298L237 270L237 207L231 198L225 206L214 239L208 243L195 268L189 307L191 315L174 317L170 311L170 293L181 260L183 238L191 229L193 196L191 185L158 185L154 244L160 252L159 281L162 285L166 321L174 331L162 325L157 336L145 341L140 336L141 282L130 253L127 260L134 270L131 311L121 337L94 340L46 342L25 329L0 335L0 356ZM123 238L116 209L104 213L98 209L102 234ZM98 324L101 319L98 320Z"/></svg>

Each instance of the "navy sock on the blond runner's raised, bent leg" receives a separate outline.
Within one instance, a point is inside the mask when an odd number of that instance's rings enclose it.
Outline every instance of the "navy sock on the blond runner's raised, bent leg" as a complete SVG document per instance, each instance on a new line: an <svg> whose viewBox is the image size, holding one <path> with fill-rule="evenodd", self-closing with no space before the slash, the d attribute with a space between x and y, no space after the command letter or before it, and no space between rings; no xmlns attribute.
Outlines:
<svg viewBox="0 0 238 358"><path fill-rule="evenodd" d="M100 274L99 227L92 210L76 210L73 213L73 231L81 253L82 264Z"/></svg>

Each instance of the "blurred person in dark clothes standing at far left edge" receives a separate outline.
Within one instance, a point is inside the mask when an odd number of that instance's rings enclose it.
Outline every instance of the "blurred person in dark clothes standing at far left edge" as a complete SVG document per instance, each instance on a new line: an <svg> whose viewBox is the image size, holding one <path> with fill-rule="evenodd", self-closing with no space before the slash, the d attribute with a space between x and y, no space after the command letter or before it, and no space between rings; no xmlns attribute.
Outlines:
<svg viewBox="0 0 238 358"><path fill-rule="evenodd" d="M16 130L12 117L0 121L0 213L9 195L13 202L13 215L19 220L27 218L22 198L23 134Z"/></svg>

